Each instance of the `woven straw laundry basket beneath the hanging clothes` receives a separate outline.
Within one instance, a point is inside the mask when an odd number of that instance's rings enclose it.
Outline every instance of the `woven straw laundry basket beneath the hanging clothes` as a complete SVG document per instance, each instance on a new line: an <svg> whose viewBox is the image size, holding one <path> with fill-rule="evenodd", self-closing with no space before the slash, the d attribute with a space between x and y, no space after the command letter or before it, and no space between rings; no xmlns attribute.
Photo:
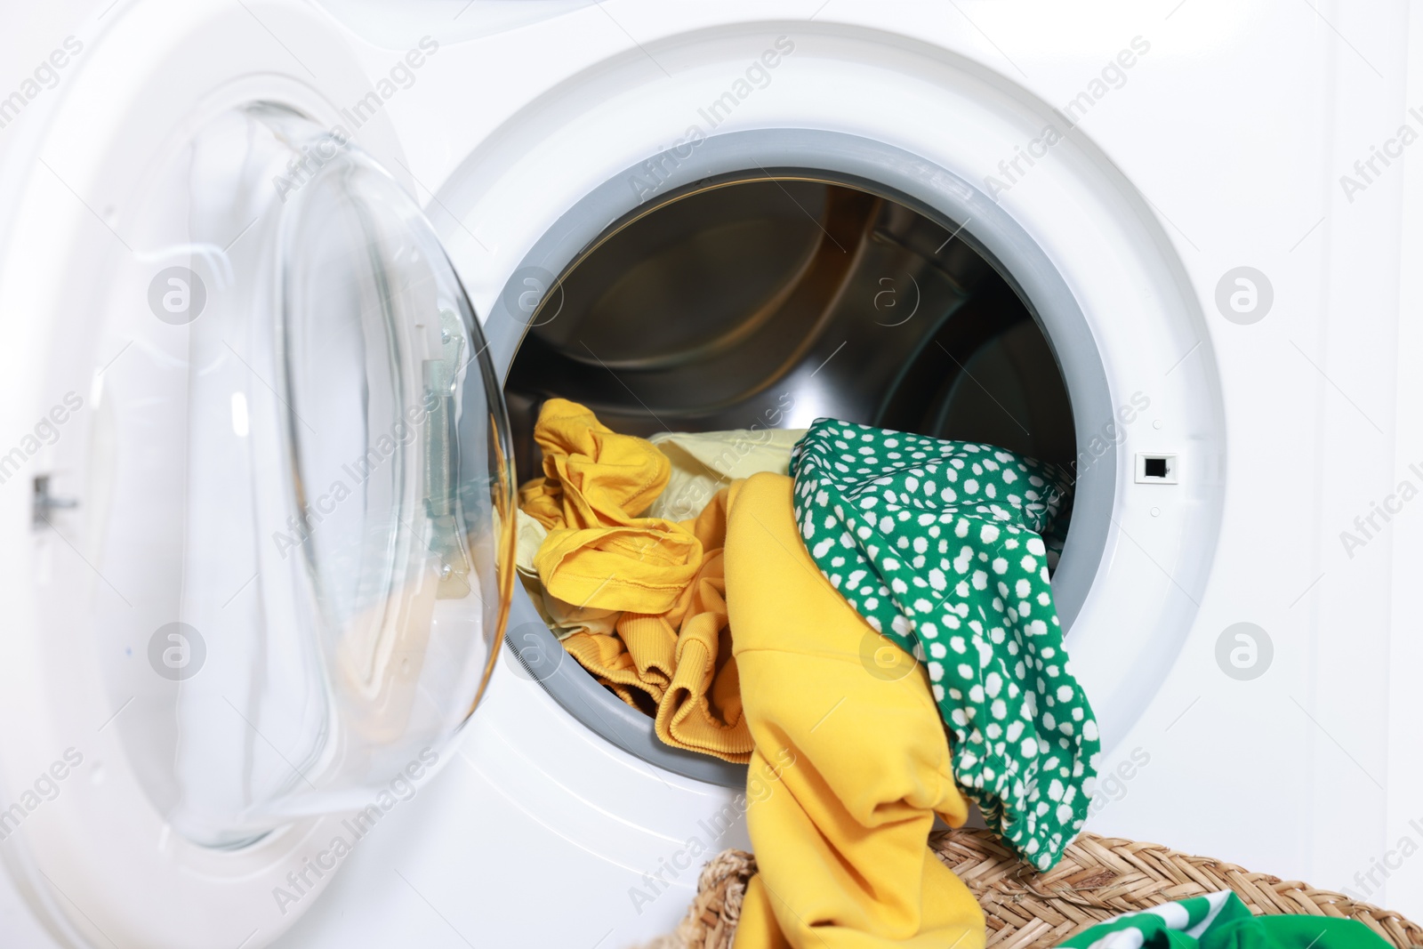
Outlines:
<svg viewBox="0 0 1423 949"><path fill-rule="evenodd" d="M1083 834L1047 874L1019 861L983 829L935 834L929 847L983 908L992 949L1049 949L1118 913L1222 889L1234 889L1257 915L1343 916L1397 949L1423 946L1423 926L1399 913L1158 844ZM697 896L677 931L646 949L730 949L754 874L750 854L717 854L702 869Z"/></svg>

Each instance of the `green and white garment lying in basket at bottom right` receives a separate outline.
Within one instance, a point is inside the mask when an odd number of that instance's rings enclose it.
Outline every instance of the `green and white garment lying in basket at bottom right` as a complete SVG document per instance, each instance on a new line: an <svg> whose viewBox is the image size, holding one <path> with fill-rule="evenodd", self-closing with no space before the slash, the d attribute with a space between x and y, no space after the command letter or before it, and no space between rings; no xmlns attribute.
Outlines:
<svg viewBox="0 0 1423 949"><path fill-rule="evenodd" d="M1252 916L1231 891L1163 903L1097 923L1072 949L1393 949L1362 922L1335 916Z"/></svg>

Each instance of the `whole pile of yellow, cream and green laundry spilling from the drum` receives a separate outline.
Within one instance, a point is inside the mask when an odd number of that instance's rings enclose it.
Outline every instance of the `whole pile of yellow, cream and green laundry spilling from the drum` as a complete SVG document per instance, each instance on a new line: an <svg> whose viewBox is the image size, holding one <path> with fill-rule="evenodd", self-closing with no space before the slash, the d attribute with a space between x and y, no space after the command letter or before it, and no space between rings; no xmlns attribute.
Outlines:
<svg viewBox="0 0 1423 949"><path fill-rule="evenodd" d="M558 398L534 438L518 561L549 627L665 743L771 788L736 945L982 946L935 815L976 801L1047 868L1096 775L1047 582L1066 472L835 420L647 441Z"/></svg>

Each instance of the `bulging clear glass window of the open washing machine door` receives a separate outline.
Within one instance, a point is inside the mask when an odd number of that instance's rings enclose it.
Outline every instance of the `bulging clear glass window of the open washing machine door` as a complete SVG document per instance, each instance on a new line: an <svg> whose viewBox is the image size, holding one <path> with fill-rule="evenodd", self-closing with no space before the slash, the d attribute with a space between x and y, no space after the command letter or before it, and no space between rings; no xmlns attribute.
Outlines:
<svg viewBox="0 0 1423 949"><path fill-rule="evenodd" d="M235 847L364 807L472 713L508 423L434 230L339 132L226 112L144 208L104 317L129 343L95 367L85 615L152 802Z"/></svg>

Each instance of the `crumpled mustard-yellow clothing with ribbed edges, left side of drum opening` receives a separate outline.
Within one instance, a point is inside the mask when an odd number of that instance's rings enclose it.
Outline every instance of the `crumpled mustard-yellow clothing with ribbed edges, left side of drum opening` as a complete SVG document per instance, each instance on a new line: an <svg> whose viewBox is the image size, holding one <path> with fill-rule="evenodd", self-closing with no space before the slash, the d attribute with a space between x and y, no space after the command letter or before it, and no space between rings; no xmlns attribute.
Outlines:
<svg viewBox="0 0 1423 949"><path fill-rule="evenodd" d="M680 524L638 516L667 482L666 457L562 398L544 404L534 440L544 477L519 499L548 529L534 569L564 647L655 716L665 743L747 761L721 573L727 492Z"/></svg>

